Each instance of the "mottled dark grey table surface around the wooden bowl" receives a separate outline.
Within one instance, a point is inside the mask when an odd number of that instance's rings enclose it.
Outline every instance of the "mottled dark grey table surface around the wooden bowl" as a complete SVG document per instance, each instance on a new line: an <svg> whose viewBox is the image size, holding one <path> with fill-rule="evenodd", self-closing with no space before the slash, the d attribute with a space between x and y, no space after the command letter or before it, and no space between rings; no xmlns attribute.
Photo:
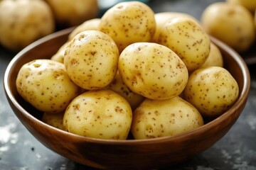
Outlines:
<svg viewBox="0 0 256 170"><path fill-rule="evenodd" d="M203 9L216 0L154 0L149 6L157 12L188 13L200 19ZM0 81L16 53L0 46ZM242 57L244 57L242 55ZM255 56L256 57L256 56ZM171 169L255 169L256 170L256 70L248 64L251 89L247 104L229 132L212 147ZM195 144L196 145L196 144ZM156 162L157 164L157 162ZM77 164L44 147L20 123L11 110L0 83L0 169L65 170L93 169ZM169 168L170 169L170 168Z"/></svg>

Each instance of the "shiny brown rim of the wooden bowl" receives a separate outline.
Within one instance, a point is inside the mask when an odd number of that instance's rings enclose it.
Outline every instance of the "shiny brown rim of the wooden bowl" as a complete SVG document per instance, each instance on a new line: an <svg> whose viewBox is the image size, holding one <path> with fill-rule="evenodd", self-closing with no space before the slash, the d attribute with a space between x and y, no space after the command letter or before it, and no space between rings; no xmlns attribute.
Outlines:
<svg viewBox="0 0 256 170"><path fill-rule="evenodd" d="M210 122L206 123L205 125L202 125L199 128L196 128L195 130L191 130L191 131L188 131L188 132L183 132L181 134L174 135L174 136L156 137L156 138L143 139L143 140L105 140L105 139L97 139L97 138L92 138L92 137L83 137L83 136L80 136L80 135L75 135L75 134L70 133L70 132L66 132L65 130L60 130L60 129L55 128L53 126L50 126L46 123L43 123L43 121L39 120L38 118L36 118L33 115L31 115L30 113L28 113L28 111L26 111L18 103L18 101L16 100L14 95L11 93L11 89L9 87L10 86L9 85L10 73L13 70L12 67L19 60L21 60L22 56L26 52L33 49L33 47L41 45L43 42L51 40L52 38L58 38L58 36L66 35L66 34L70 33L73 29L74 29L74 27L73 28L66 28L64 30L59 30L55 33L47 35L44 38L36 40L31 45L28 45L23 50L18 52L18 54L16 54L16 56L11 60L11 62L9 62L8 66L6 67L6 71L4 73L4 91L6 93L6 97L9 99L9 101L11 101L11 103L14 104L14 106L18 109L18 111L20 111L22 113L22 115L25 116L31 122L38 123L39 125L44 126L44 127L48 128L49 130L53 130L53 131L56 131L58 133L61 133L62 135L68 135L69 137L76 138L77 140L79 140L81 142L94 142L94 143L105 144L105 145L135 145L135 144L136 145L144 145L145 143L146 144L151 144L151 143L156 144L158 142L171 142L171 141L175 141L175 140L180 141L179 139L181 139L181 138L185 138L185 137L188 137L188 136L193 136L193 135L199 134L203 131L208 131L211 128L215 127L215 125L218 125L219 123L225 121L225 118L228 118L230 115L232 115L232 113L226 111L222 115L218 116L218 118L215 118L214 120L211 120ZM243 79L243 84L242 85L243 86L242 86L242 89L240 89L240 95L238 96L237 101L235 101L233 106L230 107L230 109L238 110L238 108L240 108L240 106L242 106L242 103L243 103L242 101L246 102L247 96L248 96L249 91L250 91L250 72L247 68L247 64L245 64L245 61L238 54L238 52L235 52L235 50L233 50L231 47L226 45L224 42L221 42L217 38L213 38L211 36L210 36L210 40L212 40L218 46L221 45L221 48L223 48L223 50L225 50L230 55L232 55L233 60L235 60L235 62L237 62L238 65L241 66L240 69L242 70L242 76L243 76L242 77L242 79Z"/></svg>

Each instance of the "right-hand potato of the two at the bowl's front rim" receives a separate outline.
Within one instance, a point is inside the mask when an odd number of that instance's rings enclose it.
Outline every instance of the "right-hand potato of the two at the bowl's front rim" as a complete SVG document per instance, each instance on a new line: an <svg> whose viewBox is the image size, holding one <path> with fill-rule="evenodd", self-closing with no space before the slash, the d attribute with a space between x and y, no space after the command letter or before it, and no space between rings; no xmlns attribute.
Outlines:
<svg viewBox="0 0 256 170"><path fill-rule="evenodd" d="M201 125L201 114L178 96L164 101L146 99L134 111L131 132L139 140L174 136Z"/></svg>

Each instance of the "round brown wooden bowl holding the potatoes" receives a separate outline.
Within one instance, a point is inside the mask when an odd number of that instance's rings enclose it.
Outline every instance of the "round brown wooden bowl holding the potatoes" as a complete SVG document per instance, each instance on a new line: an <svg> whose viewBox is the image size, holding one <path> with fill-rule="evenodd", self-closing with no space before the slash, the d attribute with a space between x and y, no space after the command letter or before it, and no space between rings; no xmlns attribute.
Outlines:
<svg viewBox="0 0 256 170"><path fill-rule="evenodd" d="M41 121L42 113L23 101L16 91L16 77L23 64L50 58L66 42L73 28L61 30L34 42L18 53L4 75L9 104L21 123L46 147L80 164L100 169L158 169L183 162L212 146L225 135L245 107L250 91L247 65L237 52L211 38L223 53L225 68L238 81L240 94L235 104L201 128L174 137L150 140L100 140L71 134Z"/></svg>

